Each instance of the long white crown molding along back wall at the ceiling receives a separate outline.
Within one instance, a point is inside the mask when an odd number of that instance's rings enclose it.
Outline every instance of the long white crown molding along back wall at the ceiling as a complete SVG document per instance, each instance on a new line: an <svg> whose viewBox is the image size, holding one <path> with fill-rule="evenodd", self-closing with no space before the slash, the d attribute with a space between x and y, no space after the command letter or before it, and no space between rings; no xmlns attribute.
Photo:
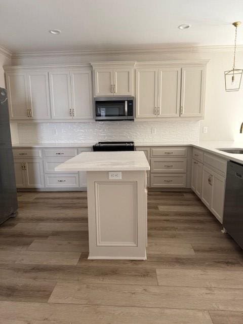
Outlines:
<svg viewBox="0 0 243 324"><path fill-rule="evenodd" d="M44 57L78 57L78 56L112 56L112 55L146 55L146 54L183 54L183 53L210 53L231 52L231 45L219 46L184 46L184 47L160 47L160 48L131 48L117 50L80 50L80 51L56 51L56 52L23 52L13 53L13 59L44 58ZM7 50L6 50L7 51ZM237 51L243 51L243 45L237 46ZM8 53L11 53L7 51Z"/></svg>

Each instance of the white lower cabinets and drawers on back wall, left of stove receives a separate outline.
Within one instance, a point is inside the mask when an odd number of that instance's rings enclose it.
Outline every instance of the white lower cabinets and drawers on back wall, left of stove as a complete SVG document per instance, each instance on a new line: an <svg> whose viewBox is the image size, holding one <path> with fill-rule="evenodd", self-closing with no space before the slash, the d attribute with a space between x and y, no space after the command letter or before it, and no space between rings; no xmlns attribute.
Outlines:
<svg viewBox="0 0 243 324"><path fill-rule="evenodd" d="M85 171L65 173L55 171L59 164L84 151L92 151L92 148L14 148L17 188L86 190L87 173ZM37 153L43 158L35 157ZM20 158L19 155L25 155L27 158Z"/></svg>

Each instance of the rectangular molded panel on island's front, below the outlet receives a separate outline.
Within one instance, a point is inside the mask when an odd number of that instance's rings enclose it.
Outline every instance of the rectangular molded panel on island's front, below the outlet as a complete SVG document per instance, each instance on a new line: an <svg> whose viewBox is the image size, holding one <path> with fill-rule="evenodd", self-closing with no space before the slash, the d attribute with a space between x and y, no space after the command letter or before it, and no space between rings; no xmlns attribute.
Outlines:
<svg viewBox="0 0 243 324"><path fill-rule="evenodd" d="M97 246L137 247L137 182L96 182L95 192Z"/></svg>

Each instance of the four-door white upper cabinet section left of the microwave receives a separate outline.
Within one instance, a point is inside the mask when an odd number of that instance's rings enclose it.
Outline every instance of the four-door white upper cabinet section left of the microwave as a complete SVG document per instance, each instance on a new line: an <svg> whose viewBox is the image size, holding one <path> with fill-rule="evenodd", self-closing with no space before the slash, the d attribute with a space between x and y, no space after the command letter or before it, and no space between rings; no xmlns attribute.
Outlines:
<svg viewBox="0 0 243 324"><path fill-rule="evenodd" d="M93 119L91 68L27 69L6 73L10 119Z"/></svg>

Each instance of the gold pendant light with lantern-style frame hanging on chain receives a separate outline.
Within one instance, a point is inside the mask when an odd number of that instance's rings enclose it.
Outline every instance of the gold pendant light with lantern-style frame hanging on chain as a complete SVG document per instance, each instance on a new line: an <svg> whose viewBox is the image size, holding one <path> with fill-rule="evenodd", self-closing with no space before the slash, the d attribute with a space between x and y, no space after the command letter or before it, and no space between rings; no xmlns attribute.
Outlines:
<svg viewBox="0 0 243 324"><path fill-rule="evenodd" d="M237 27L241 24L241 21L235 21L232 25L235 27L235 37L234 37L234 59L232 70L225 71L225 91L239 91L242 69L235 68L235 52L236 52L236 38L237 38Z"/></svg>

